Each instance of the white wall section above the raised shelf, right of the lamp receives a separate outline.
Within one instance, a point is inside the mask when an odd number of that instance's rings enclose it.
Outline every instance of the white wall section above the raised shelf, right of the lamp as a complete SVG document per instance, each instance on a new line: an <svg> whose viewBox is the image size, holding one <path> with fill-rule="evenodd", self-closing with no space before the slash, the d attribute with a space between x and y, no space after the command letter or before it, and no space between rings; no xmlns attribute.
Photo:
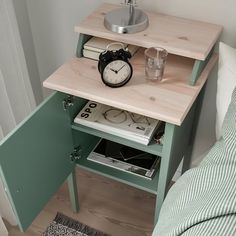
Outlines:
<svg viewBox="0 0 236 236"><path fill-rule="evenodd" d="M236 46L235 0L142 0L149 10L224 26L222 40Z"/></svg>

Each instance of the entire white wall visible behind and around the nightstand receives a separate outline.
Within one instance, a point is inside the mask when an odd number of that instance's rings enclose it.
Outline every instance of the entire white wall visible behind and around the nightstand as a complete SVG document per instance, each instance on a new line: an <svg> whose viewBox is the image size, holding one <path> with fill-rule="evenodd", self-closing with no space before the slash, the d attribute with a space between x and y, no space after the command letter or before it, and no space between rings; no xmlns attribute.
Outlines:
<svg viewBox="0 0 236 236"><path fill-rule="evenodd" d="M65 60L74 55L78 36L74 25L102 1L94 0L26 0L33 32L40 78L43 81ZM107 1L119 3L120 0ZM222 40L236 45L236 2L234 0L140 0L144 9L198 19L224 26ZM216 70L211 76L195 142L194 159L202 155L215 140ZM198 162L198 161L196 161Z"/></svg>

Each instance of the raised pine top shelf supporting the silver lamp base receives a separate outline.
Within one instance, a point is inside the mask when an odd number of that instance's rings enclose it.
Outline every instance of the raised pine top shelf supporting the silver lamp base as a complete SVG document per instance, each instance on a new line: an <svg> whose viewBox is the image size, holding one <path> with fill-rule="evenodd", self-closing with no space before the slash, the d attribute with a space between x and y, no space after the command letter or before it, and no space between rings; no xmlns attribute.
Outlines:
<svg viewBox="0 0 236 236"><path fill-rule="evenodd" d="M223 27L160 13L146 12L149 27L135 34L116 34L104 25L107 12L120 8L103 4L75 27L78 33L94 35L115 41L148 47L164 47L169 53L204 60L218 39Z"/></svg>

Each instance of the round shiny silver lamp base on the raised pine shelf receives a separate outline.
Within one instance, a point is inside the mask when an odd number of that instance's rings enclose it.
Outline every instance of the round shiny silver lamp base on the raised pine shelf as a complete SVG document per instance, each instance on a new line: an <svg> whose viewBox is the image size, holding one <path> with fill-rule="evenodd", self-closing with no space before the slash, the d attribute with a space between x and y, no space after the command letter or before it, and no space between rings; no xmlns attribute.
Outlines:
<svg viewBox="0 0 236 236"><path fill-rule="evenodd" d="M137 33L145 30L148 25L148 16L134 7L110 11L104 18L104 26L119 34Z"/></svg>

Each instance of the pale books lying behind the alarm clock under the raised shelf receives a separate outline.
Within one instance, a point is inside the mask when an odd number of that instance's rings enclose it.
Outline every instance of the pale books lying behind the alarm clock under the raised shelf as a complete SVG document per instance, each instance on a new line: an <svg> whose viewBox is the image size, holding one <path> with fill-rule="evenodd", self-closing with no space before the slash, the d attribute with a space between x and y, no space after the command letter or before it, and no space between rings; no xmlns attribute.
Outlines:
<svg viewBox="0 0 236 236"><path fill-rule="evenodd" d="M114 43L114 41L109 39L103 39L98 37L92 37L84 44L83 47L83 56L89 59L98 60L100 53L104 52L107 48L107 45ZM137 50L138 46L128 45L123 43L124 48L127 48L131 55L133 56ZM120 44L113 44L109 47L109 50L118 50L121 48Z"/></svg>

